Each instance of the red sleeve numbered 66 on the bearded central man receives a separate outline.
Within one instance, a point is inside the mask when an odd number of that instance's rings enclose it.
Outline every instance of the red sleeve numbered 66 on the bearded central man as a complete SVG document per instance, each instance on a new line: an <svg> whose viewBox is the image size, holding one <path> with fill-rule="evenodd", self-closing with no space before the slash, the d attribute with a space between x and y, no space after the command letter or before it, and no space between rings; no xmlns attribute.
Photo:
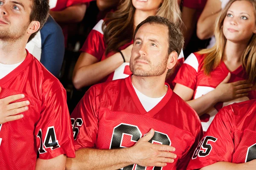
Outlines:
<svg viewBox="0 0 256 170"><path fill-rule="evenodd" d="M71 114L75 149L94 147L98 134L98 109L90 88Z"/></svg>

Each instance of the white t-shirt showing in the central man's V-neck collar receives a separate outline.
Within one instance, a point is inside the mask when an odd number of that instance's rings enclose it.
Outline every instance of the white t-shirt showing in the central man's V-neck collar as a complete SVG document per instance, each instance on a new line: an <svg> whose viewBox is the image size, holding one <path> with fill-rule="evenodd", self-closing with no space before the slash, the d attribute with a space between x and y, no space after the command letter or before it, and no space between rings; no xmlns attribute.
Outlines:
<svg viewBox="0 0 256 170"><path fill-rule="evenodd" d="M132 86L134 87L134 85L132 85ZM137 88L135 88L135 87L134 87L134 90L135 90L138 98L140 99L140 103L143 105L143 108L147 112L149 112L152 108L154 108L166 95L166 94L164 94L162 97L152 98L152 97L148 97L148 96L145 96L144 94L140 93L140 91L138 91ZM166 93L167 93L167 91L166 91Z"/></svg>

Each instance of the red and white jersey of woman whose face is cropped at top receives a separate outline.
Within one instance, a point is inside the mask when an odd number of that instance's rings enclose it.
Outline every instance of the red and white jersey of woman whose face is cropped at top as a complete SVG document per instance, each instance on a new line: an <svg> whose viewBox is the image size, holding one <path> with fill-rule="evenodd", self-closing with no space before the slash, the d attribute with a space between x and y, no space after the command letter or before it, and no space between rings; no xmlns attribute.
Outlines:
<svg viewBox="0 0 256 170"><path fill-rule="evenodd" d="M104 39L104 33L102 30L103 22L104 20L100 20L99 23L97 23L96 26L94 26L93 30L90 32L86 41L84 42L83 47L81 48L82 52L93 55L98 59L98 61L102 61L116 53L116 52L110 52L107 56L105 55L106 43ZM119 48L119 50L123 50L131 44L133 44L133 41L123 45L122 47ZM184 55L183 55L183 51L181 51L178 57L178 63L179 65L181 65L183 62L184 62ZM119 66L119 68L117 68L115 71L113 71L113 73L105 77L101 82L108 82L111 80L123 79L128 77L131 74L129 65L130 65L129 62L124 62L122 65ZM172 82L172 80L169 80L169 81Z"/></svg>

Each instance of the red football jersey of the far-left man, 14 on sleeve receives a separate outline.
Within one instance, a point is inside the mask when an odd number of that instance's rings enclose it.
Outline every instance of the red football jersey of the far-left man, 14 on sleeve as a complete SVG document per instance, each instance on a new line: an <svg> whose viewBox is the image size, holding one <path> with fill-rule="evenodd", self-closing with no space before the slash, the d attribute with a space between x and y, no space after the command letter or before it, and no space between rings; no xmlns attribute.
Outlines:
<svg viewBox="0 0 256 170"><path fill-rule="evenodd" d="M26 59L0 79L0 87L0 99L24 94L19 101L30 102L22 119L0 125L0 169L34 170L38 152L40 159L75 157L66 91L35 57L27 51Z"/></svg>

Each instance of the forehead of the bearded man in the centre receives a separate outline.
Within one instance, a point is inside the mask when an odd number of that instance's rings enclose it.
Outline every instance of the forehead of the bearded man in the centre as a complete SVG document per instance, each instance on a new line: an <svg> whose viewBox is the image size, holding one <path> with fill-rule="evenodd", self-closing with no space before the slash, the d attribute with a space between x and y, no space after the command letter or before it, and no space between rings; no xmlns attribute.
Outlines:
<svg viewBox="0 0 256 170"><path fill-rule="evenodd" d="M169 30L168 27L161 24L145 23L137 31L135 38L148 37L155 39L165 39L168 41Z"/></svg>

